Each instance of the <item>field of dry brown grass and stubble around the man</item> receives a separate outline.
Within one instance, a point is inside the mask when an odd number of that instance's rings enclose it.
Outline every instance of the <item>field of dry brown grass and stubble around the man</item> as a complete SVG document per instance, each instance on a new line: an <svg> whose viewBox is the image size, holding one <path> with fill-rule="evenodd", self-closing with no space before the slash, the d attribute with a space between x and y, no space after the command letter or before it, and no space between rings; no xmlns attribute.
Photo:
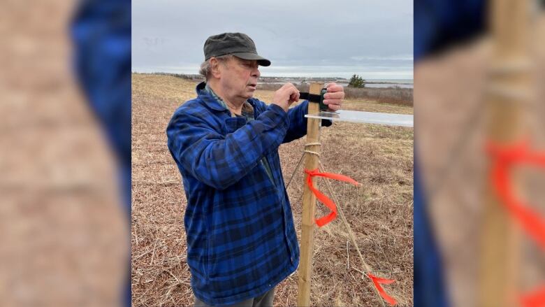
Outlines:
<svg viewBox="0 0 545 307"><path fill-rule="evenodd" d="M196 82L172 76L133 74L132 291L133 306L190 306L189 268L183 226L186 199L180 173L166 147L165 129L177 106L196 96ZM272 91L256 91L270 101ZM412 114L407 106L347 100L345 109ZM286 181L305 139L280 146ZM376 275L396 280L386 292L412 306L413 129L335 122L321 129L321 161L327 171L350 176L363 187L332 182L365 261ZM318 180L319 182L321 180ZM326 190L324 183L319 189ZM298 237L303 173L289 186ZM326 193L328 194L328 193ZM317 205L317 214L326 213ZM313 306L380 306L362 279L362 264L347 243L340 219L316 229ZM276 288L275 306L295 306L297 273Z"/></svg>

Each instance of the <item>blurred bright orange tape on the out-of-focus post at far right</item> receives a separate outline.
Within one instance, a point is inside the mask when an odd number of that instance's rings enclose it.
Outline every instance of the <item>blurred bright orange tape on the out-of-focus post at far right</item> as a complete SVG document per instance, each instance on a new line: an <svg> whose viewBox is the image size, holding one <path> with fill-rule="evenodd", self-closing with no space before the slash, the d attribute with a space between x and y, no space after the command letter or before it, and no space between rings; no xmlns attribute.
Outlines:
<svg viewBox="0 0 545 307"><path fill-rule="evenodd" d="M509 214L521 223L528 236L545 249L545 220L542 220L537 212L514 196L509 181L509 171L511 171L513 164L530 164L545 168L545 154L530 152L525 142L504 148L491 143L488 145L488 152L495 157L490 176L502 204ZM525 294L521 299L521 305L524 307L545 307L545 286L535 292Z"/></svg>

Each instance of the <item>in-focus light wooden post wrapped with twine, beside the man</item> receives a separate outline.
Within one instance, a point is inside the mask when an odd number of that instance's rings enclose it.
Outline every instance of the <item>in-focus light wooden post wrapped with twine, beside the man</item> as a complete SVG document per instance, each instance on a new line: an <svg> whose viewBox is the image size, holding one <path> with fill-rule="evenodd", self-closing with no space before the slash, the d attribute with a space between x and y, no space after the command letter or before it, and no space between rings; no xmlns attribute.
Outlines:
<svg viewBox="0 0 545 307"><path fill-rule="evenodd" d="M324 83L311 83L310 94L320 94ZM310 102L308 104L308 113L319 113L319 103ZM320 141L320 122L316 118L308 118L307 123L307 143L317 143ZM310 145L305 148L313 152L320 150L319 145ZM317 169L318 156L310 153L305 157L305 169ZM314 178L312 178L314 180ZM314 183L314 181L313 181ZM312 276L312 249L314 246L314 209L316 208L316 197L307 185L303 190L303 221L301 222L301 248L299 263L299 281L297 293L297 306L310 306L310 280Z"/></svg>

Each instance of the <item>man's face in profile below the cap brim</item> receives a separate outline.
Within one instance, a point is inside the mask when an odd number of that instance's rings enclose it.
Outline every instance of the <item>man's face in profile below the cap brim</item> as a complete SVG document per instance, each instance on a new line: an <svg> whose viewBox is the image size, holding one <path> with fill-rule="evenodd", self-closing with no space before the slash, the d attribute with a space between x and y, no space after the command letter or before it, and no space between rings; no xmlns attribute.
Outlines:
<svg viewBox="0 0 545 307"><path fill-rule="evenodd" d="M219 83L227 97L249 99L254 96L257 79L261 75L256 60L232 57L219 64Z"/></svg>

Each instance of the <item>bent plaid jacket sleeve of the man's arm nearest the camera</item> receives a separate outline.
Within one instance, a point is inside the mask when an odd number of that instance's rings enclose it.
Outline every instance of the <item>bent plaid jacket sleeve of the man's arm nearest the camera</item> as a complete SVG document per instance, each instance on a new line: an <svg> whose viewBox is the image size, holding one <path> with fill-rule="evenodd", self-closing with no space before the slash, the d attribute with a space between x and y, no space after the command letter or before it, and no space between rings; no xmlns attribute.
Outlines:
<svg viewBox="0 0 545 307"><path fill-rule="evenodd" d="M264 155L284 140L289 117L271 105L255 120L226 136L201 117L175 114L168 124L168 149L180 166L197 180L218 190L237 183Z"/></svg>

